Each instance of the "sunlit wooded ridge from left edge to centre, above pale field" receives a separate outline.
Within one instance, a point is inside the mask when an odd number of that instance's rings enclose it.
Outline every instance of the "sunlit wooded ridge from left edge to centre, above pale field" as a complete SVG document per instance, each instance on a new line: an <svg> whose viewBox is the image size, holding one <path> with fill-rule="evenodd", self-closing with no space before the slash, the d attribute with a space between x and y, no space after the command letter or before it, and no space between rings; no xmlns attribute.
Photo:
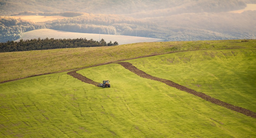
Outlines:
<svg viewBox="0 0 256 138"><path fill-rule="evenodd" d="M152 22L119 15L85 13L77 17L37 23L28 22L21 18L0 18L0 42L15 41L24 32L43 28L77 33L166 38L165 31L158 29L157 25Z"/></svg>

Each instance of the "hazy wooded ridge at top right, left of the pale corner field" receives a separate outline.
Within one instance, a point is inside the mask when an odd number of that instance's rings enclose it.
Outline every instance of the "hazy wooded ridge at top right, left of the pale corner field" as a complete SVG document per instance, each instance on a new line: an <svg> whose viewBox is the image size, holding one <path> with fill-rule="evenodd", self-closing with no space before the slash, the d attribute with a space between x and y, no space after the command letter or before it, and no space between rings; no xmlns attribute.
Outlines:
<svg viewBox="0 0 256 138"><path fill-rule="evenodd" d="M199 0L199 1L180 1L178 5L172 5L162 9L144 10L142 12L133 12L127 14L134 18L146 18L146 17L165 17L170 15L184 14L184 13L203 13L203 12L228 12L232 10L244 9L246 7L245 2L236 0ZM177 4L177 3L176 3Z"/></svg>

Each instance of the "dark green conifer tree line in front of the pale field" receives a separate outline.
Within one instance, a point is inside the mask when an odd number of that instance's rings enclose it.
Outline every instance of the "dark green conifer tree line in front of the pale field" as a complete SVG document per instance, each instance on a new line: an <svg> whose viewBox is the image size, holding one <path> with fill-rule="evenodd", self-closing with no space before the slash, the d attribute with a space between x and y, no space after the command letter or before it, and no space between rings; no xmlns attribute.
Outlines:
<svg viewBox="0 0 256 138"><path fill-rule="evenodd" d="M76 47L99 47L99 46L116 46L118 43L111 41L107 43L104 39L94 41L86 38L76 39L27 39L19 41L7 41L0 43L0 52L16 52L16 51L30 51L30 50L46 50L57 48L76 48Z"/></svg>

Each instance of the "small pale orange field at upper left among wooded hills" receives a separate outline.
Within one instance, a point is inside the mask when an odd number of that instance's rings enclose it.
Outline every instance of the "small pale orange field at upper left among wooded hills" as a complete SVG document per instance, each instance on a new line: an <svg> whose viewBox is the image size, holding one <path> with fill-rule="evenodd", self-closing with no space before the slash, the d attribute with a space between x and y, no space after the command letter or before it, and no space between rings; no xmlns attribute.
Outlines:
<svg viewBox="0 0 256 138"><path fill-rule="evenodd" d="M16 19L21 18L22 20L27 20L30 22L45 22L45 21L69 18L69 17L60 16L60 15L56 15L56 16L19 15L19 16L6 16L6 17L16 18Z"/></svg>

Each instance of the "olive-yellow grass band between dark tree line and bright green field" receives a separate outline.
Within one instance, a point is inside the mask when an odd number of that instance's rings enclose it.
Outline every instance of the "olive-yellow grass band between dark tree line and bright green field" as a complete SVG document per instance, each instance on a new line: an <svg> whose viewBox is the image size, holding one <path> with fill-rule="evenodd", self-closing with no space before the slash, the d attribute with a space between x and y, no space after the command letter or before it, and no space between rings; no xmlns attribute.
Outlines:
<svg viewBox="0 0 256 138"><path fill-rule="evenodd" d="M0 82L154 54L200 49L255 47L256 40L246 43L240 40L223 40L134 43L111 47L7 52L0 53Z"/></svg>

